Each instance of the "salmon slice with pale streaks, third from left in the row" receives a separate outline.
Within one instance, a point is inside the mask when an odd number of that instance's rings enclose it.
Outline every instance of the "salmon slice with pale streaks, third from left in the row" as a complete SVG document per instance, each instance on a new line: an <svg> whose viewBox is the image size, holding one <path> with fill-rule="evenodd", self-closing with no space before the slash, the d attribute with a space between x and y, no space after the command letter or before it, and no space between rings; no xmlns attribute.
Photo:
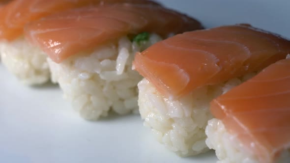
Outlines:
<svg viewBox="0 0 290 163"><path fill-rule="evenodd" d="M250 25L185 32L135 56L135 69L171 99L259 71L290 53L290 41Z"/></svg>

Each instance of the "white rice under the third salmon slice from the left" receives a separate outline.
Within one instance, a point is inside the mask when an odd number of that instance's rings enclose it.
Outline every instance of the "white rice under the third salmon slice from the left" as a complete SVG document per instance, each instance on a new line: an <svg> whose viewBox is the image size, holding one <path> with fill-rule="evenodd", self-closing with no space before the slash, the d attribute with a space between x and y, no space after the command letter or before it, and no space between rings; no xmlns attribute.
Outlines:
<svg viewBox="0 0 290 163"><path fill-rule="evenodd" d="M149 81L143 79L138 83L138 105L144 125L151 128L159 142L180 156L206 152L209 149L205 144L204 130L207 121L212 118L210 101L251 76L204 86L175 101L161 95Z"/></svg>

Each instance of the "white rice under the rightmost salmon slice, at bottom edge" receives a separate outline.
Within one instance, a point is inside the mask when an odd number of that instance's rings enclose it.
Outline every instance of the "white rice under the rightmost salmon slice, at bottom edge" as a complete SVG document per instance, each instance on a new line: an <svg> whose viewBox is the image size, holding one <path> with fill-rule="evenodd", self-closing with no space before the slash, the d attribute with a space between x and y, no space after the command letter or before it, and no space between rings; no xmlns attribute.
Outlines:
<svg viewBox="0 0 290 163"><path fill-rule="evenodd" d="M255 154L243 149L242 143L236 136L232 136L223 122L213 118L208 121L205 129L206 145L214 149L220 161L217 163L259 163ZM276 163L289 163L290 150L285 150Z"/></svg>

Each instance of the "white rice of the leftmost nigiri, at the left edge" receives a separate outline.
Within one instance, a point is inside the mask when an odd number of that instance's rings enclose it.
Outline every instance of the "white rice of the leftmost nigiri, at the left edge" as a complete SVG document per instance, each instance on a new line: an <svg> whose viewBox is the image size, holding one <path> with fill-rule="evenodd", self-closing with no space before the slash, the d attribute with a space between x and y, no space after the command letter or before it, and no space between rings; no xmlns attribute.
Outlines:
<svg viewBox="0 0 290 163"><path fill-rule="evenodd" d="M23 37L0 43L1 61L7 70L27 85L42 84L50 79L47 55Z"/></svg>

